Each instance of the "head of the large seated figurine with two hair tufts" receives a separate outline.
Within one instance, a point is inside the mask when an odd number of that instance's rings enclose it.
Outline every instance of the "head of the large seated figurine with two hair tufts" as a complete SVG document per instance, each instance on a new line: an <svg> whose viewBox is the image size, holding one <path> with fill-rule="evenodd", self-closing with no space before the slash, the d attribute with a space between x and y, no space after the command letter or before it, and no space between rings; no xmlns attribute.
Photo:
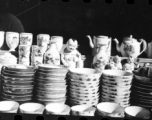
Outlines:
<svg viewBox="0 0 152 120"><path fill-rule="evenodd" d="M72 52L72 51L75 51L77 48L78 48L77 40L69 39L68 42L67 42L67 50Z"/></svg>

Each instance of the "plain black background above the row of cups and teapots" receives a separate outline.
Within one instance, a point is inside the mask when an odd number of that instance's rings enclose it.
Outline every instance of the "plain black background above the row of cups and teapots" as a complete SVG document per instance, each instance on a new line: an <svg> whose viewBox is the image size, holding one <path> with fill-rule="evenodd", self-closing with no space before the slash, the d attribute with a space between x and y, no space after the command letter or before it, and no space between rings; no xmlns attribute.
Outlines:
<svg viewBox="0 0 152 120"><path fill-rule="evenodd" d="M33 7L35 6L35 7ZM26 32L36 35L48 33L61 35L64 43L69 38L76 38L78 50L83 55L91 55L89 40L86 35L106 35L118 38L129 36L147 42L152 40L152 5L147 0L135 0L134 4L126 0L9 0L9 10L24 25ZM115 51L115 43L112 43Z"/></svg>

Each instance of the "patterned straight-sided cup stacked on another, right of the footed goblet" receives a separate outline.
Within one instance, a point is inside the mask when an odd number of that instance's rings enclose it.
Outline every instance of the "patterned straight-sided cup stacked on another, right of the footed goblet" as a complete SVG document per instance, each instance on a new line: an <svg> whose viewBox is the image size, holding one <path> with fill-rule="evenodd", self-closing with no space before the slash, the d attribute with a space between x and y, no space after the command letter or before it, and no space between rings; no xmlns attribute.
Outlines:
<svg viewBox="0 0 152 120"><path fill-rule="evenodd" d="M33 34L32 33L20 33L20 45L32 45Z"/></svg>

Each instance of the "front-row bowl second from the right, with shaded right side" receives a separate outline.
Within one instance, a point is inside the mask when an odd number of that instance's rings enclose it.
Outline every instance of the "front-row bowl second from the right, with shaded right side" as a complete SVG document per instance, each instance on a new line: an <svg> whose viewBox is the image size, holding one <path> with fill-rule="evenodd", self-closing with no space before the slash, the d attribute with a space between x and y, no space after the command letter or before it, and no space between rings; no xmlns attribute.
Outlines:
<svg viewBox="0 0 152 120"><path fill-rule="evenodd" d="M102 102L97 105L96 113L102 117L118 117L123 118L124 108L117 103Z"/></svg>

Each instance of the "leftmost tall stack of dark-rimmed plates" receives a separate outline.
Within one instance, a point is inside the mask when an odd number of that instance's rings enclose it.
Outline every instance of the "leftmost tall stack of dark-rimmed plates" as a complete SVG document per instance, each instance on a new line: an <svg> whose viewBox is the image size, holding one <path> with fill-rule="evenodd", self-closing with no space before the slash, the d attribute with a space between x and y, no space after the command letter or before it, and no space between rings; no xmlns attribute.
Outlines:
<svg viewBox="0 0 152 120"><path fill-rule="evenodd" d="M7 65L2 68L2 99L19 103L33 97L35 70L24 65Z"/></svg>

